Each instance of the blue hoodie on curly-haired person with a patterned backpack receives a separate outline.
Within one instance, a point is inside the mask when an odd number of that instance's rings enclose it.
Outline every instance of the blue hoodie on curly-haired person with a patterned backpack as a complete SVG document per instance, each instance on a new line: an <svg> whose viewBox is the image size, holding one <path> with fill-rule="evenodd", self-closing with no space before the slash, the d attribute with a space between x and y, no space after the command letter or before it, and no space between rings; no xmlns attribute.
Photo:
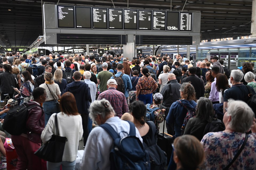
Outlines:
<svg viewBox="0 0 256 170"><path fill-rule="evenodd" d="M194 100L180 100L188 109L196 109L197 103ZM185 109L178 101L175 101L170 108L170 111L166 117L166 124L174 123L174 131L176 136L181 135L181 127L184 119L187 115L187 109Z"/></svg>

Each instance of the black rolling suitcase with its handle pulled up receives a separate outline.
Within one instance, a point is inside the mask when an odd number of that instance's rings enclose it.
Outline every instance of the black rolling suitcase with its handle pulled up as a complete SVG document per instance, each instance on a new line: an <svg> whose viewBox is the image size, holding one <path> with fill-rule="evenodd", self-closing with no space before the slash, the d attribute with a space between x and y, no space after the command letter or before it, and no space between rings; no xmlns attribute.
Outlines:
<svg viewBox="0 0 256 170"><path fill-rule="evenodd" d="M171 144L173 143L173 136L164 132L165 118L163 120L163 133L157 134L157 145L167 154L167 164L169 164L171 159L171 152L173 151L173 147L171 146Z"/></svg>

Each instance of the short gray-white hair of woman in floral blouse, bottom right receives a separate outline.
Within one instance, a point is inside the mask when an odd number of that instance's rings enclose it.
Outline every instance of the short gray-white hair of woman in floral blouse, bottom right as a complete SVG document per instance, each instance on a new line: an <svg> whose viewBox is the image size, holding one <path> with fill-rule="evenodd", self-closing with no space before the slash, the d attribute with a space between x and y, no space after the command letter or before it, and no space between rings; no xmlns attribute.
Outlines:
<svg viewBox="0 0 256 170"><path fill-rule="evenodd" d="M253 110L245 102L232 99L228 100L227 116L231 116L230 128L240 133L250 129L255 117Z"/></svg>

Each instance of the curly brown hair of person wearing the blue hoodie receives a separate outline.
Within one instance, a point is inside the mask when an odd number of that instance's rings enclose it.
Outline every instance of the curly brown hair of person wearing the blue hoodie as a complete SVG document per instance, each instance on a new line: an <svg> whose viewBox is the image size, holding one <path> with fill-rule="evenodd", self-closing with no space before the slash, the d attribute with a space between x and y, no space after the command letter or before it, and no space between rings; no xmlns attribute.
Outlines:
<svg viewBox="0 0 256 170"><path fill-rule="evenodd" d="M197 101L195 97L195 88L189 82L181 84L182 99Z"/></svg>

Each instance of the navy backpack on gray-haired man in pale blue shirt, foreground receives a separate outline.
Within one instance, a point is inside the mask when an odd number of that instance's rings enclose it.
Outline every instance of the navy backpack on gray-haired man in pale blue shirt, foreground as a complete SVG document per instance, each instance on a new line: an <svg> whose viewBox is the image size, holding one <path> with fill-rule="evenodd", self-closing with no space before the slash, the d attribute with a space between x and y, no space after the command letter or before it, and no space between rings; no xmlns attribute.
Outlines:
<svg viewBox="0 0 256 170"><path fill-rule="evenodd" d="M129 121L128 121L129 122ZM150 159L143 144L136 137L135 126L129 122L130 132L126 137L121 138L119 134L109 125L100 125L113 138L113 148L110 152L111 170L150 170Z"/></svg>

